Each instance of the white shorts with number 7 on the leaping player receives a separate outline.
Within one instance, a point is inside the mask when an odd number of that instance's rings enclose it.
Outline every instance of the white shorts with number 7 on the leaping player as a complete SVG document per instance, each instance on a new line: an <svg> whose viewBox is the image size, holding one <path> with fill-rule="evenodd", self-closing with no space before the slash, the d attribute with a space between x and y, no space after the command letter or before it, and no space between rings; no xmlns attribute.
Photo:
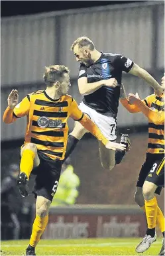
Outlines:
<svg viewBox="0 0 165 256"><path fill-rule="evenodd" d="M117 131L117 119L115 117L108 117L107 115L102 115L88 107L83 102L80 102L79 108L82 110L83 113L89 115L91 120L99 127L101 133L109 140L115 141L117 138L116 131Z"/></svg>

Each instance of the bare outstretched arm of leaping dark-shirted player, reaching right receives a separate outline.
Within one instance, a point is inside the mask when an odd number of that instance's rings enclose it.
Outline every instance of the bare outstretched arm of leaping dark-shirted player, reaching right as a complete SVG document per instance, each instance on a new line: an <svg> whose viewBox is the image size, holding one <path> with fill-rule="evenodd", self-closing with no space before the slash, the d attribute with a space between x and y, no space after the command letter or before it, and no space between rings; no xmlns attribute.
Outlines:
<svg viewBox="0 0 165 256"><path fill-rule="evenodd" d="M133 74L135 76L138 76L139 78L142 78L145 80L152 88L154 88L156 95L161 96L163 93L163 88L156 82L156 80L143 68L140 68L137 64L133 64L133 67L129 71L130 74Z"/></svg>

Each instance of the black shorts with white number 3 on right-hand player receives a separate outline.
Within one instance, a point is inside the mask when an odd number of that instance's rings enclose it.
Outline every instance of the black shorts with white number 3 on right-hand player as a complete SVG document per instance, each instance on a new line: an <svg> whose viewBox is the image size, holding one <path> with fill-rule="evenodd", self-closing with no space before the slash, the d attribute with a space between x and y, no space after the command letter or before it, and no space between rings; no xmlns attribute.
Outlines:
<svg viewBox="0 0 165 256"><path fill-rule="evenodd" d="M146 153L146 161L142 164L137 186L142 188L145 180L158 186L155 193L160 195L162 186L164 186L164 154Z"/></svg>

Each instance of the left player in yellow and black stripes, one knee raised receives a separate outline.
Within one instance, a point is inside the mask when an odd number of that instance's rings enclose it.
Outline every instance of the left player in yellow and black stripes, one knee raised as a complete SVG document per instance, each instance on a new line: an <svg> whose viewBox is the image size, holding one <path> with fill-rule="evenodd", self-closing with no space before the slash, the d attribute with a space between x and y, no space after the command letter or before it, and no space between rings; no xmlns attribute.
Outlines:
<svg viewBox="0 0 165 256"><path fill-rule="evenodd" d="M46 90L28 94L19 104L18 92L12 90L3 115L5 123L13 123L18 118L27 116L25 143L21 147L21 172L17 184L21 195L27 196L30 173L36 174L36 218L26 255L35 255L35 247L48 223L48 211L56 193L66 153L68 118L72 117L82 123L107 149L125 150L125 145L109 142L97 126L83 115L72 96L67 94L70 86L68 68L59 65L46 67L44 81Z"/></svg>

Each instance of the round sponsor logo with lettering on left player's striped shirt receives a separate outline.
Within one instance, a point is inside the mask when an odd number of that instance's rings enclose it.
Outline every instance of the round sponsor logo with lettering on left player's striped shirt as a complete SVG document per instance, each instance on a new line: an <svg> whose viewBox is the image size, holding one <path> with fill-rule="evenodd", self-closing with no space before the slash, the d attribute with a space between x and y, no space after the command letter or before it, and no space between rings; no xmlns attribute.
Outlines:
<svg viewBox="0 0 165 256"><path fill-rule="evenodd" d="M41 128L62 128L62 120L53 120L48 117L39 117L37 123Z"/></svg>

